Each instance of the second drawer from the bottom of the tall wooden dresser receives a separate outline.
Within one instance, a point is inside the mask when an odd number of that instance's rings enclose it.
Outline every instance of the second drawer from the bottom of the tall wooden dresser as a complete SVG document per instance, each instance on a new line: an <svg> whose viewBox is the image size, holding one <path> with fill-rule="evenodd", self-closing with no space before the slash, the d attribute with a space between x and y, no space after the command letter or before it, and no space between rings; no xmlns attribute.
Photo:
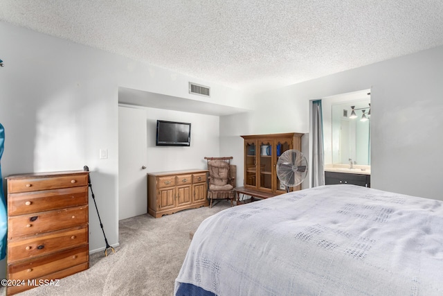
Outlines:
<svg viewBox="0 0 443 296"><path fill-rule="evenodd" d="M8 242L8 261L15 262L42 256L88 243L88 227L68 229L51 234L17 238Z"/></svg>

